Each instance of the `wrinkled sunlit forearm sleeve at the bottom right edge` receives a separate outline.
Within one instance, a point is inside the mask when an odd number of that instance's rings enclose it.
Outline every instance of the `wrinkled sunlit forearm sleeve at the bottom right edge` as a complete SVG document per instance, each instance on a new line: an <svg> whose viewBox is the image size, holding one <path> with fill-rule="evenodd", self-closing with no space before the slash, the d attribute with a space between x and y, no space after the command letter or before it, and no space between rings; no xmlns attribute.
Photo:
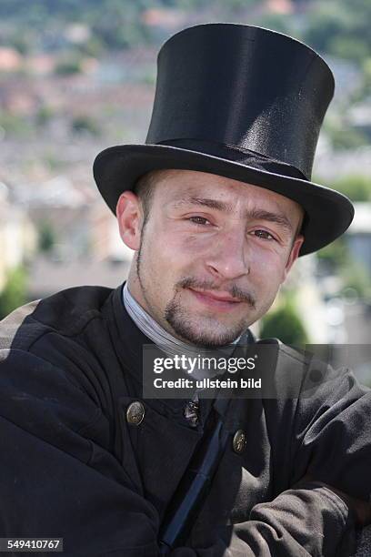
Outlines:
<svg viewBox="0 0 371 557"><path fill-rule="evenodd" d="M303 481L274 501L257 504L249 521L216 532L203 548L178 548L171 557L349 557L356 551L354 517L318 482Z"/></svg>

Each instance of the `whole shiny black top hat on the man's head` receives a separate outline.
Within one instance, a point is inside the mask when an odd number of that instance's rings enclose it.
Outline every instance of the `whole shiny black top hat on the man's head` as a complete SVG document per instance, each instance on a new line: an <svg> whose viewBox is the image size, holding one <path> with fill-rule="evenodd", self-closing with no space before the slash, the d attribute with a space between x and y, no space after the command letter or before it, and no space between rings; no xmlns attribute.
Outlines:
<svg viewBox="0 0 371 557"><path fill-rule="evenodd" d="M187 28L162 46L145 145L109 147L94 174L108 207L146 172L183 168L266 187L306 211L300 255L350 225L349 199L310 181L334 94L326 62L295 39L250 25Z"/></svg>

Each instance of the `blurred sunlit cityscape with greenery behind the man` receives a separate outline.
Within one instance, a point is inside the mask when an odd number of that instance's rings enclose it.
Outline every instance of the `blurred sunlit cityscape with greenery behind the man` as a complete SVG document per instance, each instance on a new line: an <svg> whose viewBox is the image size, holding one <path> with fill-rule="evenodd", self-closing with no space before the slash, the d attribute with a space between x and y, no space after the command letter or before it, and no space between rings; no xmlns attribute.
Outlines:
<svg viewBox="0 0 371 557"><path fill-rule="evenodd" d="M346 193L356 218L299 260L256 330L361 345L357 373L371 384L369 0L0 0L0 319L60 289L125 279L131 253L97 193L94 158L145 141L161 44L220 21L293 35L334 71L313 179Z"/></svg>

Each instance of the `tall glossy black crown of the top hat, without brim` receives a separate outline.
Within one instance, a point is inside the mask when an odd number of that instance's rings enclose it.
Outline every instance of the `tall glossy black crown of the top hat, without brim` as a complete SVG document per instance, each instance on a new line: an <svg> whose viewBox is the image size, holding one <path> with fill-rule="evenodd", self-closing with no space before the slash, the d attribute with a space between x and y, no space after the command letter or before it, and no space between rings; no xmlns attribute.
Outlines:
<svg viewBox="0 0 371 557"><path fill-rule="evenodd" d="M157 68L145 143L206 140L274 158L310 179L335 86L311 48L259 27L197 25L166 41Z"/></svg>

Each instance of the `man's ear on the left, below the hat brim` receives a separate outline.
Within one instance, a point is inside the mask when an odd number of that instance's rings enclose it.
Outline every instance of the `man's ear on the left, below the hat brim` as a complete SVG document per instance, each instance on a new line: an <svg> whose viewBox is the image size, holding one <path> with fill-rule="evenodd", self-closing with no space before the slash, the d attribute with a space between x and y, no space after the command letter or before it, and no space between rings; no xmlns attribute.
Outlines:
<svg viewBox="0 0 371 557"><path fill-rule="evenodd" d="M140 247L143 211L139 197L132 191L125 191L118 198L116 217L120 236L128 248L135 251Z"/></svg>

